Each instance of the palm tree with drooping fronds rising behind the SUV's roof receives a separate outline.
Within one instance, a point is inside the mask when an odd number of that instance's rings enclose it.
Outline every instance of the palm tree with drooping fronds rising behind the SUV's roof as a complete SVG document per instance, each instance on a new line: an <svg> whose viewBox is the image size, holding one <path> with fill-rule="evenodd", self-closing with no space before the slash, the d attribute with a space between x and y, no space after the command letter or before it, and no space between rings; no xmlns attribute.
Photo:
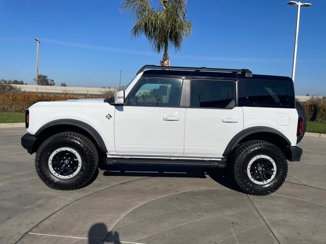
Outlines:
<svg viewBox="0 0 326 244"><path fill-rule="evenodd" d="M192 33L192 23L186 18L186 0L159 0L159 6L155 10L149 0L124 0L121 9L135 16L132 36L144 35L155 52L164 50L160 63L170 66L169 45L179 51L183 39Z"/></svg>

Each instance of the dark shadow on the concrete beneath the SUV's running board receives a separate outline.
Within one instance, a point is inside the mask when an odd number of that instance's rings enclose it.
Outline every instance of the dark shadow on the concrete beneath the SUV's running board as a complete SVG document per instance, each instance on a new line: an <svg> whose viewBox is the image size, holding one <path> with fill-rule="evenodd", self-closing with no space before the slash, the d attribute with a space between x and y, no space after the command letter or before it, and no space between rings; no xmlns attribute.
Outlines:
<svg viewBox="0 0 326 244"><path fill-rule="evenodd" d="M189 166L153 166L153 165L110 165L104 168L104 176L143 176L143 177L190 177L207 178L234 191L236 186L230 170L227 168L204 168Z"/></svg>

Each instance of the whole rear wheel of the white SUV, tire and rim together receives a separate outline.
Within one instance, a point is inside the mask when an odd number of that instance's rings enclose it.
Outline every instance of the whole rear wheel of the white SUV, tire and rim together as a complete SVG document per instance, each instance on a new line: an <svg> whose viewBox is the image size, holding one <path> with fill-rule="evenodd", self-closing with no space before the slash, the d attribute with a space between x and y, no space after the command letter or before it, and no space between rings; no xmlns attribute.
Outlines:
<svg viewBox="0 0 326 244"><path fill-rule="evenodd" d="M231 162L234 179L247 194L271 194L282 186L287 175L287 161L281 149L262 140L239 144Z"/></svg>

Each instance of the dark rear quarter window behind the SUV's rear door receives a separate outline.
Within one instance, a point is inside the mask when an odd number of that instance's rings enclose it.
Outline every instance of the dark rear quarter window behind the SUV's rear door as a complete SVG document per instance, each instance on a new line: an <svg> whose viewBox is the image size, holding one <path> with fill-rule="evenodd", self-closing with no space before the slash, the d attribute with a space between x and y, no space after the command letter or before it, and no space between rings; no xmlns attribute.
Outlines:
<svg viewBox="0 0 326 244"><path fill-rule="evenodd" d="M288 107L287 84L282 81L241 80L239 106Z"/></svg>

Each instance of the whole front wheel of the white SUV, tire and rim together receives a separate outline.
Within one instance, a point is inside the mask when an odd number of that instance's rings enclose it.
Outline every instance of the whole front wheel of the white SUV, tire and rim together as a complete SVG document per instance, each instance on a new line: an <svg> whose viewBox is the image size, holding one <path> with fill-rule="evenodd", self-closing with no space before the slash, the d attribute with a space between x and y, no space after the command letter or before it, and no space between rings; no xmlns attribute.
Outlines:
<svg viewBox="0 0 326 244"><path fill-rule="evenodd" d="M75 132L46 139L35 157L38 176L56 190L76 190L88 185L96 174L98 153L94 143Z"/></svg>

